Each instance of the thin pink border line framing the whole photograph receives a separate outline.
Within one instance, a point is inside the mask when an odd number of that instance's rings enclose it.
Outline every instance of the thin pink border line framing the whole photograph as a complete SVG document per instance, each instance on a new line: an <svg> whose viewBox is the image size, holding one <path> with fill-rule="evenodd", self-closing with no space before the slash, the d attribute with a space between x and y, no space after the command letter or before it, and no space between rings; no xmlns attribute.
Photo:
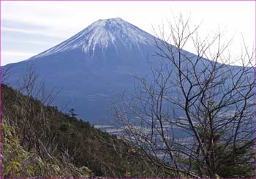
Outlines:
<svg viewBox="0 0 256 179"><path fill-rule="evenodd" d="M0 8L1 8L1 1L72 1L72 0L0 0ZM138 1L138 0L73 0L73 1ZM157 1L157 0L139 0L139 1ZM159 0L159 1L177 1L177 0ZM222 1L222 0L179 0L179 1ZM256 19L256 0L225 0L225 1L255 1L255 19ZM256 26L256 22L255 22ZM256 28L255 28L256 29ZM255 31L255 38L256 38L256 31ZM1 9L0 9L0 42L1 42ZM256 39L255 39L255 52L256 52ZM255 66L256 66L256 58L255 58ZM255 72L255 78L256 78L256 72ZM1 83L1 43L0 43L0 83ZM255 84L255 90L256 90L256 84ZM256 104L256 96L255 96L255 104ZM0 132L1 132L1 85L0 85ZM255 106L255 116L256 116L256 106ZM256 137L256 118L255 118L255 137ZM2 145L2 138L0 134L0 153L1 153L1 145ZM255 143L255 151L256 151L256 143ZM256 162L256 155L255 155L255 162ZM2 173L2 155L0 154L0 178ZM256 167L255 167L255 175L256 175ZM16 178L12 178L16 179ZM18 179L18 178L17 178ZM23 179L23 178L19 178ZM27 178L24 178L27 179ZM56 178L61 179L61 178ZM73 178L69 178L73 179ZM105 178L105 179L113 179L113 178ZM148 178L153 179L153 178ZM174 178L173 178L174 179Z"/></svg>

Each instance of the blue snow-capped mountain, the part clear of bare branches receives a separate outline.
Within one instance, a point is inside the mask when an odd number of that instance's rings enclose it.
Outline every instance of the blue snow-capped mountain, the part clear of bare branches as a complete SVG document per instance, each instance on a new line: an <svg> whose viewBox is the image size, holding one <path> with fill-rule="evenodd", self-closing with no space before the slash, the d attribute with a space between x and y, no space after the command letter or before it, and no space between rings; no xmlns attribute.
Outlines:
<svg viewBox="0 0 256 179"><path fill-rule="evenodd" d="M8 83L15 87L33 66L47 88L62 88L54 104L69 104L91 123L109 123L111 99L132 91L135 76L148 74L147 58L157 61L156 39L121 18L97 20L59 45L2 69L12 69Z"/></svg>

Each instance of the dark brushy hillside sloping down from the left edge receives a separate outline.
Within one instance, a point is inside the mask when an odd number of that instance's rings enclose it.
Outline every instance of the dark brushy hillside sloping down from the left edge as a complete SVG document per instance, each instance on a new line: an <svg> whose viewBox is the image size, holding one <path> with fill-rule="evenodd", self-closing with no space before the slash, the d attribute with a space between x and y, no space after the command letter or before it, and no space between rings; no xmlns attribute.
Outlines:
<svg viewBox="0 0 256 179"><path fill-rule="evenodd" d="M117 137L7 85L1 99L2 178L173 176Z"/></svg>

